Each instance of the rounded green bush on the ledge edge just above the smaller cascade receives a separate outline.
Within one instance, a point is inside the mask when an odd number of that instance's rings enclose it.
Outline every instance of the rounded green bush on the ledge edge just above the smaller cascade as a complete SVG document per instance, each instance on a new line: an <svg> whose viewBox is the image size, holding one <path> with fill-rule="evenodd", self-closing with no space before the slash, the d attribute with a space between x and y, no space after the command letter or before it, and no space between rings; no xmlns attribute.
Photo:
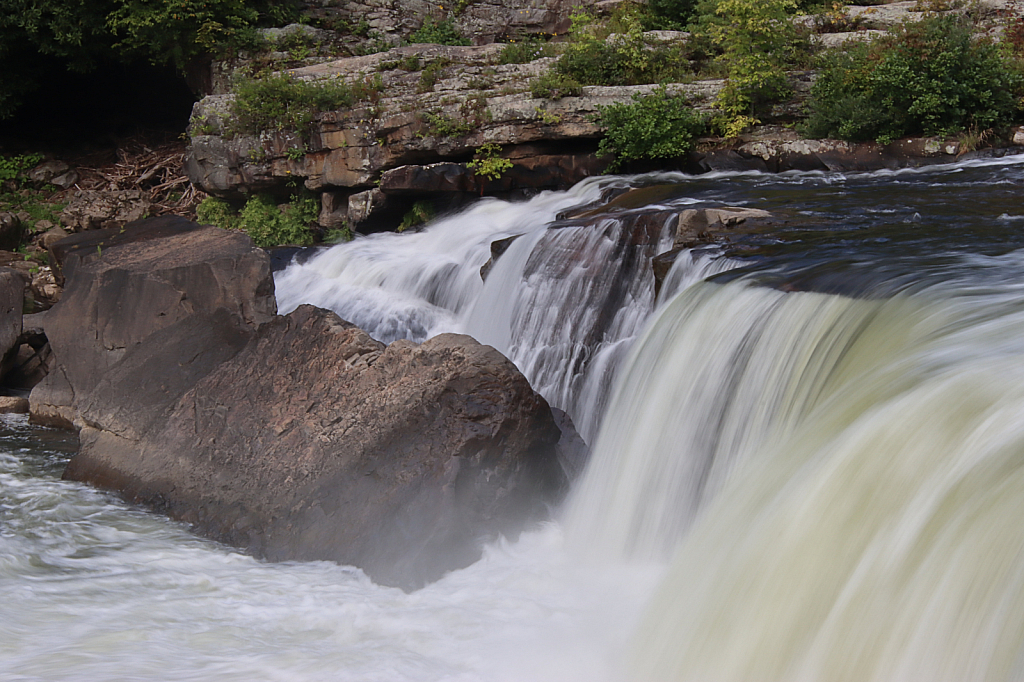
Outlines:
<svg viewBox="0 0 1024 682"><path fill-rule="evenodd" d="M605 128L598 154L614 154L609 170L638 159L671 159L688 154L707 123L685 96L664 87L635 94L632 102L598 106L597 123Z"/></svg>

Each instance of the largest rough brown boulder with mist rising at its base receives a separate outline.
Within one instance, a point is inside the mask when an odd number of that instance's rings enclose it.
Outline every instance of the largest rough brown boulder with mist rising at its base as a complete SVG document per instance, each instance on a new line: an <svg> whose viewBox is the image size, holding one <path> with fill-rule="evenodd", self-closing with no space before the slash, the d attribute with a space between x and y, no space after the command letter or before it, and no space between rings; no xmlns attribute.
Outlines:
<svg viewBox="0 0 1024 682"><path fill-rule="evenodd" d="M564 489L551 410L489 346L385 347L308 305L255 332L218 314L153 334L80 400L66 477L269 559L335 560L402 588L468 565ZM169 369L182 365L191 379Z"/></svg>

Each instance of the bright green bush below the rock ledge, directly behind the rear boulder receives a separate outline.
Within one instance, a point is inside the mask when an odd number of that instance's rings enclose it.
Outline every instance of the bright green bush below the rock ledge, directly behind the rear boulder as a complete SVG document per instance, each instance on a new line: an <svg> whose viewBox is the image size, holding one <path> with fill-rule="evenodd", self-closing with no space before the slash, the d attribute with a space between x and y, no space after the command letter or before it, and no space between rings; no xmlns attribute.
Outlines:
<svg viewBox="0 0 1024 682"><path fill-rule="evenodd" d="M284 207L279 207L267 195L255 195L249 198L240 212L214 197L204 199L196 207L200 222L224 229L245 230L253 244L263 249L283 244L312 244L309 225L316 221L318 215L319 202L311 194L299 195Z"/></svg>

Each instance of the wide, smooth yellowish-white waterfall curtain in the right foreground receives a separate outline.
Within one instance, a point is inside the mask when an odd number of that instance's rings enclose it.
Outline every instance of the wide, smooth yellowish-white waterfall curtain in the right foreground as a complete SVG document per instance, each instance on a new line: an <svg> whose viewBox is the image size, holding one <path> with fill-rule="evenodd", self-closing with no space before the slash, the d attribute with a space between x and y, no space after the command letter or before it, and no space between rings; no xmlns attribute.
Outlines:
<svg viewBox="0 0 1024 682"><path fill-rule="evenodd" d="M674 557L631 677L1020 679L1022 355L1019 292L660 309L566 513L580 551Z"/></svg>

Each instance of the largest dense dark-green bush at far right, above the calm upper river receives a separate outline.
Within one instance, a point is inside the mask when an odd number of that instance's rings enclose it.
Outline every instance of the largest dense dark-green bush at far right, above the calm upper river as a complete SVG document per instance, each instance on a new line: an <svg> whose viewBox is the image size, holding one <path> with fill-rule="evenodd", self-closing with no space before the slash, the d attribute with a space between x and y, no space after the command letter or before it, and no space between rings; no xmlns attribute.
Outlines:
<svg viewBox="0 0 1024 682"><path fill-rule="evenodd" d="M889 142L1009 124L1024 79L988 40L951 15L904 24L870 44L829 52L806 133Z"/></svg>

